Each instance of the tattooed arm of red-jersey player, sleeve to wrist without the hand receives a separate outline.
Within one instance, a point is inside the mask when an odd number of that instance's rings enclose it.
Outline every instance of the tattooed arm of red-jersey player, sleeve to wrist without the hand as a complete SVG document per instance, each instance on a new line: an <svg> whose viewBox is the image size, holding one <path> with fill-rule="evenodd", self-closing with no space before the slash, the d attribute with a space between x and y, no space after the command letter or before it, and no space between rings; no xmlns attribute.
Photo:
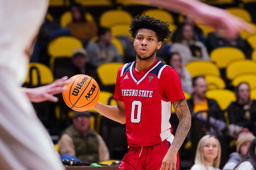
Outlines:
<svg viewBox="0 0 256 170"><path fill-rule="evenodd" d="M186 99L177 100L173 102L172 105L175 109L176 115L179 118L180 122L177 127L176 134L171 147L173 149L180 149L180 146L185 140L191 126L191 114L188 109Z"/></svg>

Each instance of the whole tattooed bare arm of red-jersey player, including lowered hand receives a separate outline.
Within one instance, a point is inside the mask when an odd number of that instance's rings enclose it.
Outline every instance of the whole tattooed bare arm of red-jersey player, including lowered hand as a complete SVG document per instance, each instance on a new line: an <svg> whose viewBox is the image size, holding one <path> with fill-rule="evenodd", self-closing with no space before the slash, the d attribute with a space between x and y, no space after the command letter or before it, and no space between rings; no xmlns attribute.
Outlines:
<svg viewBox="0 0 256 170"><path fill-rule="evenodd" d="M180 122L177 127L172 144L163 159L161 170L168 170L168 168L172 169L172 167L173 170L176 170L178 150L180 149L181 144L185 140L191 126L191 114L188 109L186 99L177 100L173 102L172 105Z"/></svg>

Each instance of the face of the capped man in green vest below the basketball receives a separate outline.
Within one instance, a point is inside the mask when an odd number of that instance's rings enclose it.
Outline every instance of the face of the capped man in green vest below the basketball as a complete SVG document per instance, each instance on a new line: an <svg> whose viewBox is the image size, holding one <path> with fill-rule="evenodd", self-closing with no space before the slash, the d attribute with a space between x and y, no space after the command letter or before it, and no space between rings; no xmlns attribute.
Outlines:
<svg viewBox="0 0 256 170"><path fill-rule="evenodd" d="M85 132L90 127L90 117L85 115L79 115L73 118L73 124L78 131Z"/></svg>

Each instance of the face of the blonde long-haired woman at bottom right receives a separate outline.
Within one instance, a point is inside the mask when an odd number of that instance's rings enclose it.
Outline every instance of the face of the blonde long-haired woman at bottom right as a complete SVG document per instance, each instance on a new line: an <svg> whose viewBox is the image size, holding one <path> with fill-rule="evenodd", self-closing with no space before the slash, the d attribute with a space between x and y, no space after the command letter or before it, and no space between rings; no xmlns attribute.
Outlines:
<svg viewBox="0 0 256 170"><path fill-rule="evenodd" d="M212 161L217 158L219 152L219 144L217 139L209 137L203 145L203 155L206 161Z"/></svg>

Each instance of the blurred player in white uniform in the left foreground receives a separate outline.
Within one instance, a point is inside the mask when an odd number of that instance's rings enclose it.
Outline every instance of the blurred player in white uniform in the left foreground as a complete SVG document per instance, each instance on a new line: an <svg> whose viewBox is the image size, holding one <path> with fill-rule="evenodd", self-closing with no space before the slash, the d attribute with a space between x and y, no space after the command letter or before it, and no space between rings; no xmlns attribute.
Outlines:
<svg viewBox="0 0 256 170"><path fill-rule="evenodd" d="M35 89L21 88L32 41L43 22L47 0L0 0L0 169L64 170L33 102L57 101L67 77Z"/></svg>

